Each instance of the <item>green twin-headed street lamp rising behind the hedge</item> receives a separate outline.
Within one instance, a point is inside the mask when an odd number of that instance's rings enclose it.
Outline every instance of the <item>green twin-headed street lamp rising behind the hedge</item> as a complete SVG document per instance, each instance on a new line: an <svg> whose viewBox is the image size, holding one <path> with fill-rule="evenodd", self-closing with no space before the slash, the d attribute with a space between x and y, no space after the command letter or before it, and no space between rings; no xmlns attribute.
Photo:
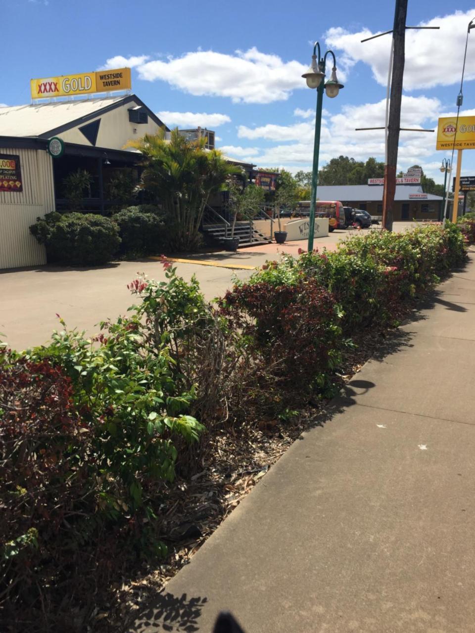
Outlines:
<svg viewBox="0 0 475 633"><path fill-rule="evenodd" d="M318 54L317 54L318 51ZM333 68L329 80L324 84L322 81L325 77L325 66L327 61L327 55L333 57ZM315 42L314 54L312 55L312 63L307 72L302 75L307 80L309 88L317 89L317 111L315 113L315 140L314 140L314 165L312 167L312 196L310 197L310 216L308 218L308 252L314 250L314 235L315 235L315 201L317 199L317 184L319 174L319 151L320 151L320 128L322 127L322 104L323 104L323 91L327 93L327 97L333 99L338 95L338 92L343 88L343 84L340 84L336 78L336 59L333 51L327 51L323 58L320 53L320 44Z"/></svg>

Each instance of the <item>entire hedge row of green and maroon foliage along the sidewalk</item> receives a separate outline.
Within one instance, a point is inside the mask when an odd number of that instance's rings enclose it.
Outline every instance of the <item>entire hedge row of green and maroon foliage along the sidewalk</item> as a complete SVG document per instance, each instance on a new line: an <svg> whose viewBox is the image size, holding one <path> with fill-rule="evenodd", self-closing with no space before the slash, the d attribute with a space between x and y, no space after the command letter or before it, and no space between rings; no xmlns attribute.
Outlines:
<svg viewBox="0 0 475 633"><path fill-rule="evenodd" d="M334 395L352 337L393 327L464 263L462 230L372 232L335 253L284 256L217 305L164 260L166 281L129 284L141 302L94 341L64 329L23 354L0 348L0 596L11 613L49 618L65 587L88 591L88 574L107 584L124 557L165 556L175 470L202 468L217 434L282 424Z"/></svg>

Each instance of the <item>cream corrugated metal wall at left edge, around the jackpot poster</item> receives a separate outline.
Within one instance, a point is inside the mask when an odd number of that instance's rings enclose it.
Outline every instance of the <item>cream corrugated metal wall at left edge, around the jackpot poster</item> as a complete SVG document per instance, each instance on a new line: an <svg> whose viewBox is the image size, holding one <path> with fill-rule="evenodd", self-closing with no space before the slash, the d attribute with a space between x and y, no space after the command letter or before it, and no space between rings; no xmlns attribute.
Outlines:
<svg viewBox="0 0 475 633"><path fill-rule="evenodd" d="M20 156L23 191L0 191L0 269L46 264L46 250L30 234L38 216L54 211L53 165L41 149L0 147Z"/></svg>

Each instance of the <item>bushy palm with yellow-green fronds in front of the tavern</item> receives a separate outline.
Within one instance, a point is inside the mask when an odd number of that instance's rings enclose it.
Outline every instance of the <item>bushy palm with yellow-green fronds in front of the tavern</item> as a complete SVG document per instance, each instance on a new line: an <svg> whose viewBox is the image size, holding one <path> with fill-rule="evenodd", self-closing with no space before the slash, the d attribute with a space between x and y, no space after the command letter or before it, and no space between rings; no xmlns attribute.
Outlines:
<svg viewBox="0 0 475 633"><path fill-rule="evenodd" d="M170 222L170 246L191 250L200 243L200 226L206 203L226 179L239 169L224 160L217 149L205 149L205 139L190 141L178 129L170 141L165 132L129 141L144 155L142 186L160 202Z"/></svg>

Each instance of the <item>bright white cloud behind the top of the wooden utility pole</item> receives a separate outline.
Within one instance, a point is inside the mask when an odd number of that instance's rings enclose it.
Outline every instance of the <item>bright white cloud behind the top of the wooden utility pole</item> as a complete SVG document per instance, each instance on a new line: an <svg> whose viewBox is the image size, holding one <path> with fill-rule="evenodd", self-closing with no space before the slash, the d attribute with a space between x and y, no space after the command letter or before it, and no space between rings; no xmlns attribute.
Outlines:
<svg viewBox="0 0 475 633"><path fill-rule="evenodd" d="M408 90L452 85L460 82L464 58L467 25L475 15L475 9L466 13L455 11L450 15L437 16L418 26L440 27L440 30L407 30L404 87ZM378 84L388 81L391 35L362 43L365 37L375 35L367 28L350 33L344 28L333 27L326 32L326 44L336 49L339 66L348 71L358 61L371 66ZM338 53L338 51L341 51ZM475 38L469 37L467 60L475 56ZM468 64L466 80L475 78L475 66Z"/></svg>

